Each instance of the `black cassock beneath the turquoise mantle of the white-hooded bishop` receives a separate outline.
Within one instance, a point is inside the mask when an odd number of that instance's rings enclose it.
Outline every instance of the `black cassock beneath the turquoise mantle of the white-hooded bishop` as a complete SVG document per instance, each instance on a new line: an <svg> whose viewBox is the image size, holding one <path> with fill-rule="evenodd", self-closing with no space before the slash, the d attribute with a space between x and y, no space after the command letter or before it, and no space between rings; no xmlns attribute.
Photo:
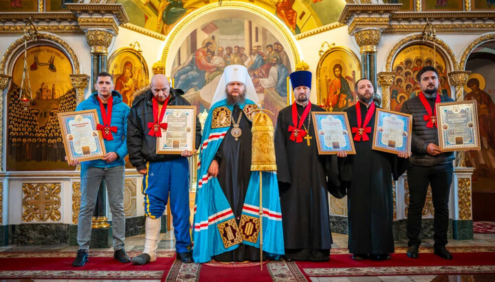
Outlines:
<svg viewBox="0 0 495 282"><path fill-rule="evenodd" d="M242 130L239 140L236 141L235 137L230 133L234 127L232 121L230 129L225 134L217 150L217 154L214 156L214 159L219 163L218 180L221 189L234 212L238 225L251 177L252 143L252 123L243 114L241 108L236 105L234 106L234 110L232 110L232 119L237 122L239 115L243 115L239 123L239 128ZM256 261L259 258L259 248L244 244L239 244L239 248L235 250L214 256L214 260L216 261L244 261L246 259Z"/></svg>

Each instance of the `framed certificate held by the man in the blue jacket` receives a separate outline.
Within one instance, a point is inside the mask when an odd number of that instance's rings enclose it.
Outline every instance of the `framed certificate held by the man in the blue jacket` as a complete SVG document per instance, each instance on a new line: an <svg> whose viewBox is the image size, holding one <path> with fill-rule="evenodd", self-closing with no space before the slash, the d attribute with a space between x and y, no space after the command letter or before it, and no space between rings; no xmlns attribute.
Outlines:
<svg viewBox="0 0 495 282"><path fill-rule="evenodd" d="M96 125L100 123L96 110L58 113L67 162L91 161L102 158L107 151Z"/></svg>

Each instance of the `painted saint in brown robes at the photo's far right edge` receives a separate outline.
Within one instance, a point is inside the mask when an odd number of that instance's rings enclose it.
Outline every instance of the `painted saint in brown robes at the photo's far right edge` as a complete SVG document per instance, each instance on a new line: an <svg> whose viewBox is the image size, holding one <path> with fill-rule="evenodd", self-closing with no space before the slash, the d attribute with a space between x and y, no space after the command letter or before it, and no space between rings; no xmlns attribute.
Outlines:
<svg viewBox="0 0 495 282"><path fill-rule="evenodd" d="M476 100L478 109L478 124L481 137L481 150L470 151L467 161L476 169L474 176L489 176L495 180L495 104L492 97L483 89L477 78L467 81L470 93L465 95L465 100Z"/></svg>

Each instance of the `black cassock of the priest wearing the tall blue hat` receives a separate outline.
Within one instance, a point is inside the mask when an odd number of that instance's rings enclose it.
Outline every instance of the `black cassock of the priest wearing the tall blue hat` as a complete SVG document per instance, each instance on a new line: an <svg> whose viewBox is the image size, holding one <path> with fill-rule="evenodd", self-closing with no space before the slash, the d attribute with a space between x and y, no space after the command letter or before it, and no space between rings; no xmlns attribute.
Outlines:
<svg viewBox="0 0 495 282"><path fill-rule="evenodd" d="M297 104L299 116L303 106ZM325 112L311 105L311 112ZM311 113L309 113L311 119ZM305 126L308 128L308 117ZM298 118L299 122L299 118ZM329 259L332 244L329 222L329 198L327 176L338 184L337 157L318 154L313 128L309 124L311 145L307 140L296 143L289 140L293 125L292 106L278 113L275 130L275 152L278 189L281 199L285 257L296 260L323 261ZM301 129L305 129L301 126ZM349 172L350 174L350 172ZM350 175L348 176L350 178Z"/></svg>

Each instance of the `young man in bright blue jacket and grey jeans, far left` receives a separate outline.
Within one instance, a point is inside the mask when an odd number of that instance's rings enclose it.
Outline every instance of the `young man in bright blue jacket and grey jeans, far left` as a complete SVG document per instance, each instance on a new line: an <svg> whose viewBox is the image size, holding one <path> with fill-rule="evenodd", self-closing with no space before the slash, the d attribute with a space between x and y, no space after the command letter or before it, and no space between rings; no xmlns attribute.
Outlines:
<svg viewBox="0 0 495 282"><path fill-rule="evenodd" d="M127 116L129 106L122 102L122 96L113 91L110 73L98 73L95 88L91 94L77 106L78 110L96 110L98 113L98 130L101 130L107 154L103 158L81 163L80 191L81 202L78 220L77 241L79 250L73 266L84 266L88 261L89 240L91 239L91 218L96 206L100 183L104 179L107 185L110 209L112 213L113 258L122 263L131 259L124 250L125 213L124 213L124 176L127 155ZM77 165L74 161L69 165Z"/></svg>

